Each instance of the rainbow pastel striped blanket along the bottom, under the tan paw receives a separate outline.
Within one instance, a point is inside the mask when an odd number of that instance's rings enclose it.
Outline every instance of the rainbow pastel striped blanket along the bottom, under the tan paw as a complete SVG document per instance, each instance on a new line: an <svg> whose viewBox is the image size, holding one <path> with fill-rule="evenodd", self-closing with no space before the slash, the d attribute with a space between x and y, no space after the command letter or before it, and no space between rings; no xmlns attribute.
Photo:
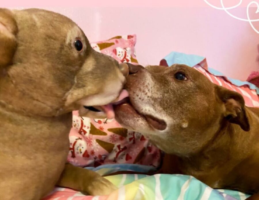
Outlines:
<svg viewBox="0 0 259 200"><path fill-rule="evenodd" d="M134 164L102 165L92 169L101 175L121 170L148 172L153 167ZM106 196L85 196L78 191L56 188L44 200L243 200L249 195L238 191L214 190L192 176L121 174L107 176L118 189Z"/></svg>

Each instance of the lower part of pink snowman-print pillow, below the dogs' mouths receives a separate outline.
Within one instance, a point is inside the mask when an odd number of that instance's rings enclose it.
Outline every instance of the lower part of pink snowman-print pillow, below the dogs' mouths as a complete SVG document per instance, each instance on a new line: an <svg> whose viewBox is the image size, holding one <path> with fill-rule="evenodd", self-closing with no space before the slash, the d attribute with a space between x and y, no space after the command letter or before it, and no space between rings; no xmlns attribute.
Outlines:
<svg viewBox="0 0 259 200"><path fill-rule="evenodd" d="M160 151L143 135L129 131L115 119L90 119L73 113L68 161L73 165L98 167L132 163L157 167Z"/></svg>

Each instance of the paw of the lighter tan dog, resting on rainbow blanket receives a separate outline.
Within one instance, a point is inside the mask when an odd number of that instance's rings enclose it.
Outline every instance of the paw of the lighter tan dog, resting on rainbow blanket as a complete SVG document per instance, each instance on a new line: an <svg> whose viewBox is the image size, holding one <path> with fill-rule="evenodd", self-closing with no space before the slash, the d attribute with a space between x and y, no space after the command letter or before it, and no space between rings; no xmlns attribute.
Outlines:
<svg viewBox="0 0 259 200"><path fill-rule="evenodd" d="M82 192L92 196L109 195L118 188L102 176L97 176L91 180L91 183L87 186L87 190Z"/></svg>

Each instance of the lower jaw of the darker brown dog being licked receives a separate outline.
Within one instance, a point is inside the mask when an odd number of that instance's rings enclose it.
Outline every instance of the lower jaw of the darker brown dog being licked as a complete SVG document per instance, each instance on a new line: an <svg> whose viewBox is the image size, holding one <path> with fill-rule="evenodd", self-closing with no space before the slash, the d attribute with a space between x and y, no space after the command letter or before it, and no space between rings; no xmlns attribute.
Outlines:
<svg viewBox="0 0 259 200"><path fill-rule="evenodd" d="M146 131L163 131L167 127L164 120L139 113L130 102L115 105L114 111L115 119L127 129L144 133Z"/></svg>

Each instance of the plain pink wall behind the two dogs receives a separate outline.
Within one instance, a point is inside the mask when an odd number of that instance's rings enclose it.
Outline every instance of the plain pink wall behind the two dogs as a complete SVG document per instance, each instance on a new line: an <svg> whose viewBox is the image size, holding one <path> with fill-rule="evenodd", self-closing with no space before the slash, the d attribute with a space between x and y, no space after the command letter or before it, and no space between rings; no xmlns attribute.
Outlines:
<svg viewBox="0 0 259 200"><path fill-rule="evenodd" d="M196 1L196 4L194 1L173 1L174 5L171 1L170 6L173 7L156 6L155 3L149 7L115 6L119 4L107 7L107 3L100 4L102 7L93 7L96 2L69 8L29 6L26 3L14 5L9 2L5 7L42 7L59 12L74 20L90 41L136 34L136 56L144 65L158 64L171 51L178 51L206 56L209 67L236 79L245 80L251 71L259 70L259 34L248 22L236 20L222 10L207 6L202 0ZM220 5L215 2L220 1L211 1ZM253 14L255 9L251 11L251 16L258 19L259 13ZM246 18L243 4L231 13ZM254 24L259 29L259 22Z"/></svg>

